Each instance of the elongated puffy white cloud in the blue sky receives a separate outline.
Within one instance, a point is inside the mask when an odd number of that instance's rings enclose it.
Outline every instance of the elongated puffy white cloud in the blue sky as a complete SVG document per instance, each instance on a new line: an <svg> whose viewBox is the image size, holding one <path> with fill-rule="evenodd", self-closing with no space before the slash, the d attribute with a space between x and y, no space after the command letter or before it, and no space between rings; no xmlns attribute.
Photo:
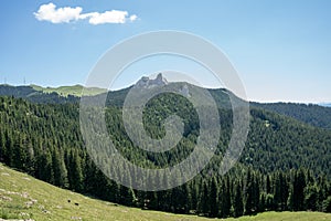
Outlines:
<svg viewBox="0 0 331 221"><path fill-rule="evenodd" d="M54 3L42 4L34 17L39 21L49 21L52 23L68 23L77 20L88 20L90 24L105 24L105 23L126 23L127 21L134 22L138 19L136 14L129 15L127 11L111 10L99 12L82 13L81 7L57 8Z"/></svg>

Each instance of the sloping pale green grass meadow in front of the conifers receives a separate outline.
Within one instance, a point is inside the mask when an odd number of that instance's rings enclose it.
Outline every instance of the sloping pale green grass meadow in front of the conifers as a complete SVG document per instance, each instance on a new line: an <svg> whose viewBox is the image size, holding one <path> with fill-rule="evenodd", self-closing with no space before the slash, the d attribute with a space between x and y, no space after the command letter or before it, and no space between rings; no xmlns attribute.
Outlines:
<svg viewBox="0 0 331 221"><path fill-rule="evenodd" d="M71 202L68 202L68 200ZM203 221L215 220L146 211L105 202L53 187L0 164L0 220L109 220L109 221ZM320 212L265 212L226 221L320 221L331 214Z"/></svg>

